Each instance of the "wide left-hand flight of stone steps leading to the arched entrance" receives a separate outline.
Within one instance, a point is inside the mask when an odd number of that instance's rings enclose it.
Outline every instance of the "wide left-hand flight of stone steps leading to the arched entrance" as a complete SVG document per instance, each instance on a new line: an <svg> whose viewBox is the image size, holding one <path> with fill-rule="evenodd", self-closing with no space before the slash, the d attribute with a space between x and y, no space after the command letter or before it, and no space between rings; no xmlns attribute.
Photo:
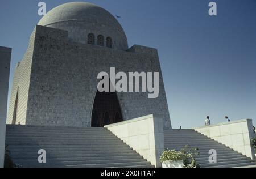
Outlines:
<svg viewBox="0 0 256 179"><path fill-rule="evenodd" d="M7 125L6 144L14 163L26 168L154 167L105 128ZM45 164L38 163L40 149Z"/></svg>

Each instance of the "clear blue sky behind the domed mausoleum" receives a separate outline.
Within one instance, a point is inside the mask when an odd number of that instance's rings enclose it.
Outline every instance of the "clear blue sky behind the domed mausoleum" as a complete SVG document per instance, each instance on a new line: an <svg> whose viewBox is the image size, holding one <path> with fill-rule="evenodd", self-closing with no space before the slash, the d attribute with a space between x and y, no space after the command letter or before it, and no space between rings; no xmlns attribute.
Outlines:
<svg viewBox="0 0 256 179"><path fill-rule="evenodd" d="M0 46L13 48L14 67L26 52L38 16L35 0L0 1ZM47 11L65 2L48 0ZM98 0L118 19L129 46L158 48L173 127L253 118L256 125L256 1Z"/></svg>

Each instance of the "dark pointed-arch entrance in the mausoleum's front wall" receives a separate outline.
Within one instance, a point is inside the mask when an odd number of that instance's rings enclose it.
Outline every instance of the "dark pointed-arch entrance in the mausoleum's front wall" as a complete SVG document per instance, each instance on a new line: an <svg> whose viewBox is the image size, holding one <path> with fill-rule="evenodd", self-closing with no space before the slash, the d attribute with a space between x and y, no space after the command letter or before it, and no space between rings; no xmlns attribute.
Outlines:
<svg viewBox="0 0 256 179"><path fill-rule="evenodd" d="M117 93L97 91L92 111L92 127L103 127L122 121Z"/></svg>

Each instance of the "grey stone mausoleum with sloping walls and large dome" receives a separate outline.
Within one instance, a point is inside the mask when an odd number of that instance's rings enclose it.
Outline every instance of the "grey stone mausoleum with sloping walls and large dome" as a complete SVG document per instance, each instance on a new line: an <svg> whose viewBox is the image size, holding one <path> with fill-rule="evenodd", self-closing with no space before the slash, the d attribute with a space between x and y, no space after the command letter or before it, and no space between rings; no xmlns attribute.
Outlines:
<svg viewBox="0 0 256 179"><path fill-rule="evenodd" d="M159 96L97 91L98 73L159 72ZM171 129L158 51L128 47L123 28L108 11L71 2L49 11L36 25L16 65L7 123L102 127L155 114Z"/></svg>

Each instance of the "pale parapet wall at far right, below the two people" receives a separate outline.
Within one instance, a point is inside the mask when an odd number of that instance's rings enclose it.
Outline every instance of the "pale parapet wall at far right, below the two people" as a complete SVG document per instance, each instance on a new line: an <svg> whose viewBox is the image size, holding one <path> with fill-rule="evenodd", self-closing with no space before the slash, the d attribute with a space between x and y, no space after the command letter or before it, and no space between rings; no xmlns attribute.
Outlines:
<svg viewBox="0 0 256 179"><path fill-rule="evenodd" d="M194 129L251 159L255 159L254 149L250 143L251 138L255 136L253 133L253 120L238 120L195 127Z"/></svg>

